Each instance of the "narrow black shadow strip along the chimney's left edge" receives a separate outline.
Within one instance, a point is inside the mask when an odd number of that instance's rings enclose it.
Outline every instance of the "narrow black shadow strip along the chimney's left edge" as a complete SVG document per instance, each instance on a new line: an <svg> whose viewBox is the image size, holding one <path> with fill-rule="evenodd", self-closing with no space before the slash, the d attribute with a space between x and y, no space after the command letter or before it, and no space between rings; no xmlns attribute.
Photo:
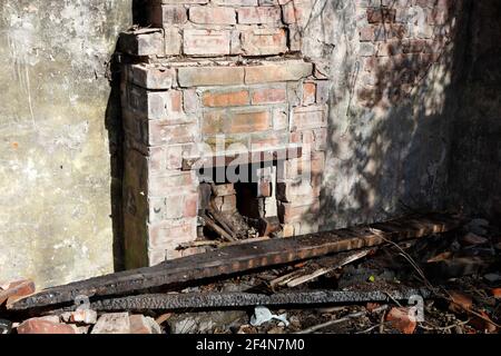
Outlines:
<svg viewBox="0 0 501 356"><path fill-rule="evenodd" d="M146 0L132 1L134 23L145 23ZM122 29L127 30L127 29ZM108 62L107 77L110 83L110 95L106 108L106 129L108 130L109 155L111 167L111 220L114 231L114 266L115 270L125 269L124 250L124 216L122 207L122 179L124 179L124 130L121 125L121 103L120 103L120 56L118 49L119 40L116 43L114 55Z"/></svg>

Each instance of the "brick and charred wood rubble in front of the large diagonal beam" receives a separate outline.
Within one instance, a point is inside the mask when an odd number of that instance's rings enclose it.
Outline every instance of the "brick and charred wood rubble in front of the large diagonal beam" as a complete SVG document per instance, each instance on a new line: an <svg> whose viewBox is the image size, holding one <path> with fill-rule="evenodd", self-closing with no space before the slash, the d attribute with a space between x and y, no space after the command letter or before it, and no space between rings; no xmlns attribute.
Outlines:
<svg viewBox="0 0 501 356"><path fill-rule="evenodd" d="M37 306L31 281L2 283L0 333L493 334L500 243L499 227L473 219L425 238L76 305Z"/></svg>

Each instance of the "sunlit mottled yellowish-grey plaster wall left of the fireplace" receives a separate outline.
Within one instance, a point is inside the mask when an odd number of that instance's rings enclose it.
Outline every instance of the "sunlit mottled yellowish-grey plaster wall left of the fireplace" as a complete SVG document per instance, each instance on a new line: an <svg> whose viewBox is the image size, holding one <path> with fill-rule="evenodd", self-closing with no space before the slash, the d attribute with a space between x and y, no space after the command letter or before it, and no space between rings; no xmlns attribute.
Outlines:
<svg viewBox="0 0 501 356"><path fill-rule="evenodd" d="M107 62L131 0L0 1L0 279L114 267Z"/></svg>

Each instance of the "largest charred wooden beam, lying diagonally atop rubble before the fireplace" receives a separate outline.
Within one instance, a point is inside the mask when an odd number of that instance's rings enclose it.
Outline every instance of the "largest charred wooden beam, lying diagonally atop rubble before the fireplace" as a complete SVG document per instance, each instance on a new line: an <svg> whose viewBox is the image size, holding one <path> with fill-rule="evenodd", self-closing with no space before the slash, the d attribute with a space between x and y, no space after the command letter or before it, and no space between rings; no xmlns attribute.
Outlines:
<svg viewBox="0 0 501 356"><path fill-rule="evenodd" d="M78 296L109 297L131 295L154 287L176 288L206 278L249 273L347 250L384 245L432 234L446 233L461 226L461 220L444 215L397 219L372 227L356 227L312 234L288 239L225 247L202 255L169 260L155 267L140 268L97 277L43 290L12 306L13 310L73 303ZM377 231L375 231L377 229Z"/></svg>

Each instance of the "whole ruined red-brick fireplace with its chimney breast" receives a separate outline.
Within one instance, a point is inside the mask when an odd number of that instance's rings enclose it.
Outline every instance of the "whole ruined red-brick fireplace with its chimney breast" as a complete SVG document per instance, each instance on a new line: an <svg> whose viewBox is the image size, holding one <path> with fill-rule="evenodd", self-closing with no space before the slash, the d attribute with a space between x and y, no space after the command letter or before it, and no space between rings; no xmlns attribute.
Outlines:
<svg viewBox="0 0 501 356"><path fill-rule="evenodd" d="M204 239L207 199L276 237L317 231L330 81L301 53L294 2L147 12L151 27L120 39L127 267L197 253L179 246Z"/></svg>

